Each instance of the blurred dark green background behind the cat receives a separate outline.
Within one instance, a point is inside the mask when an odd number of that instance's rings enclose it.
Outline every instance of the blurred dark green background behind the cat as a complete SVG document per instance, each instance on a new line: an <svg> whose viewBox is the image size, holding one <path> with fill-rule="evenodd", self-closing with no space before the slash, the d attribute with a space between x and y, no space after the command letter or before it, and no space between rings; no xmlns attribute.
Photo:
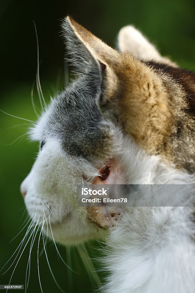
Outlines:
<svg viewBox="0 0 195 293"><path fill-rule="evenodd" d="M54 96L56 91L63 88L65 76L67 77L67 64L64 63L65 46L60 36L60 23L67 14L113 47L120 28L134 24L157 45L163 55L170 56L183 68L195 70L195 1L1 0L0 109L2 111L30 120L36 119L31 104L31 88L37 70L37 43L33 20L39 38L40 80L46 100L49 101L50 96ZM34 102L39 112L36 87ZM26 121L2 112L0 121L0 268L2 268L24 236L22 232L9 243L20 231L20 226L27 217L19 187L30 171L39 143L34 144L27 140ZM96 250L99 246L96 242L87 244L87 250L92 258L100 256ZM29 248L30 246L27 246L25 249L11 284L25 283ZM58 260L54 245L49 242L47 245L49 262L59 285L65 292L93 292L96 284L88 277L77 249L73 247L66 250L62 246L58 248L64 260L77 271L75 274L67 270L62 261ZM43 291L60 292L51 277L44 253L39 261ZM0 275L0 284L9 283L15 264L16 262L6 274ZM96 259L94 265L99 268ZM1 273L8 267L9 265L6 265ZM99 272L99 275L101 279L105 277L103 272ZM27 292L41 292L37 272L37 241L32 250L31 275Z"/></svg>

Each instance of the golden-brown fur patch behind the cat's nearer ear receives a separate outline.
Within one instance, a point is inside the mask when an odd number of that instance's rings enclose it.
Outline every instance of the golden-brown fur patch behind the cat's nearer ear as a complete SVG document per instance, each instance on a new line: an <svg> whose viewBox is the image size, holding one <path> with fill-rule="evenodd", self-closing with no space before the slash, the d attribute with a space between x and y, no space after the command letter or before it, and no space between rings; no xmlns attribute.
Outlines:
<svg viewBox="0 0 195 293"><path fill-rule="evenodd" d="M194 74L164 64L145 64L129 54L121 54L118 61L112 64L117 90L108 91L109 75L104 81L103 115L117 115L122 129L147 153L193 173Z"/></svg>

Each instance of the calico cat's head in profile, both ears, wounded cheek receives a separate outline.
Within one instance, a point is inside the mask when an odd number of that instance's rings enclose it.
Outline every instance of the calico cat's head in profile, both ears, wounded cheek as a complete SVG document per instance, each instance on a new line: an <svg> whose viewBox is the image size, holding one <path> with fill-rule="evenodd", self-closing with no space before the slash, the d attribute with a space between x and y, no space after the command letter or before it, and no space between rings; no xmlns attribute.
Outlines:
<svg viewBox="0 0 195 293"><path fill-rule="evenodd" d="M132 26L120 30L119 51L70 17L63 36L77 78L31 130L41 147L21 192L32 219L72 244L112 226L105 209L78 207L78 183L180 183L194 172L194 75Z"/></svg>

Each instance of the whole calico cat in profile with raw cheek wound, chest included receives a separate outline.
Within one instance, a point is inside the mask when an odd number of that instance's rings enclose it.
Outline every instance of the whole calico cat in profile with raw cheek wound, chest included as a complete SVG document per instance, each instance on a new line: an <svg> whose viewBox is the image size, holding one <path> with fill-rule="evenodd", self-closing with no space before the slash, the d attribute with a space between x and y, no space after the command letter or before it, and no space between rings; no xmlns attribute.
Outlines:
<svg viewBox="0 0 195 293"><path fill-rule="evenodd" d="M62 27L77 78L30 130L40 150L21 184L28 213L44 229L50 222L50 237L64 245L106 239L102 292L193 293L195 74L133 26L120 30L118 50L71 17ZM180 188L172 207L149 195L146 207L118 212L79 207L78 183ZM165 189L160 202L169 197Z"/></svg>

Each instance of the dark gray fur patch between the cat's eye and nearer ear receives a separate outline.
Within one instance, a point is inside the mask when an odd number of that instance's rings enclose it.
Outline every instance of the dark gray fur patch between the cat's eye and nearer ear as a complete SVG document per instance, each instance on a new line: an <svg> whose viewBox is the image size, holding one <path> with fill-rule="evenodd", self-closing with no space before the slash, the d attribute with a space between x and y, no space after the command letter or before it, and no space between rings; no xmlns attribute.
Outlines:
<svg viewBox="0 0 195 293"><path fill-rule="evenodd" d="M101 157L110 140L96 105L99 82L89 76L77 79L58 96L45 125L45 135L57 137L64 151L85 158Z"/></svg>

